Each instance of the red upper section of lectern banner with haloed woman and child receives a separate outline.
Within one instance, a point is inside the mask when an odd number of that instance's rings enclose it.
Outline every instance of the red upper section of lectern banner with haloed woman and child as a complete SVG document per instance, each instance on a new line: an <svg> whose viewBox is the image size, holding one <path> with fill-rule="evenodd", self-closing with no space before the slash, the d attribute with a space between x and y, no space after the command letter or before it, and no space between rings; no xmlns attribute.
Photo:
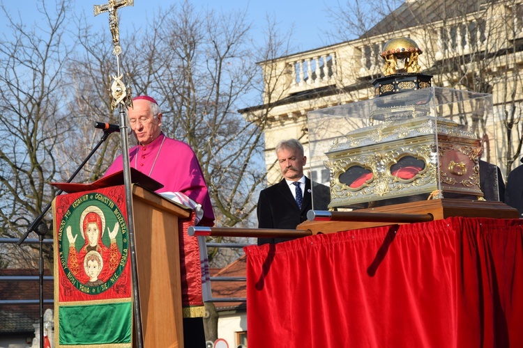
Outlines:
<svg viewBox="0 0 523 348"><path fill-rule="evenodd" d="M126 209L123 186L56 197L55 286L59 303L130 299ZM96 232L89 232L90 224L96 226ZM114 238L109 238L113 231ZM96 240L91 242L90 238ZM89 254L98 257L93 258L99 263L96 281L90 281Z"/></svg>

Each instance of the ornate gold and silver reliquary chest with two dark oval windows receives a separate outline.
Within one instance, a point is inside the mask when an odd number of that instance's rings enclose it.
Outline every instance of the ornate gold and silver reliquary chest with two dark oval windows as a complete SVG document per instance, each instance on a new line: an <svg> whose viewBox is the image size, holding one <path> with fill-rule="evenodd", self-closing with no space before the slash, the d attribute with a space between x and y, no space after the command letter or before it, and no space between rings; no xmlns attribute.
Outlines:
<svg viewBox="0 0 523 348"><path fill-rule="evenodd" d="M437 127L437 134L434 129ZM480 141L462 125L430 116L363 127L337 139L326 152L331 207L421 193L483 196Z"/></svg>

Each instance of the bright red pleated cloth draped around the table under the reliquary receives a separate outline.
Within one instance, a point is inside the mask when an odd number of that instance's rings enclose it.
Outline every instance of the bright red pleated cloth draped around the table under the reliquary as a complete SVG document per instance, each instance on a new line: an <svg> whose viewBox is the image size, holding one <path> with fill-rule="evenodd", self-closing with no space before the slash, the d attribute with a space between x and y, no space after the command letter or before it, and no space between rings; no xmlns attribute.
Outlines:
<svg viewBox="0 0 523 348"><path fill-rule="evenodd" d="M523 222L248 246L249 347L523 347Z"/></svg>

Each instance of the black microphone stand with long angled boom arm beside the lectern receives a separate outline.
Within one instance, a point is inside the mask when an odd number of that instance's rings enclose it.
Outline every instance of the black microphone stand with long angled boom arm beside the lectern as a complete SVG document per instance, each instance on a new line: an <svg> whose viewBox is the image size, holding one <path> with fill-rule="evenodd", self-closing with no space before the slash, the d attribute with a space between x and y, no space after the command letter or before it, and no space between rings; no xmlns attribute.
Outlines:
<svg viewBox="0 0 523 348"><path fill-rule="evenodd" d="M77 168L75 173L73 173L73 175L71 175L71 177L69 178L69 180L67 180L67 182L73 181L75 176L79 173L79 171L82 168L84 168L87 161L89 161L89 159L91 159L91 157L94 155L96 150L98 150L98 148L100 148L100 145L102 145L107 140L107 137L112 132L115 132L114 129L105 129L103 131L103 136L100 139L100 141L98 141L98 143L93 148L93 150L91 150L91 152L89 152L89 155L87 155L87 157L84 159L82 164L79 165L79 167ZM61 189L58 190L56 192L56 194L54 195L54 197L59 196L62 192L63 192L63 190L61 190ZM47 206L43 209L43 211L40 213L40 215L36 216L36 219L34 219L33 223L31 223L31 225L29 226L29 228L27 228L24 235L17 242L18 245L22 244L24 242L24 240L27 238L27 236L29 235L29 233L31 233L32 231L34 231L38 234L39 240L40 240L40 255L39 255L39 260L38 260L39 261L38 262L38 280L40 283L40 348L43 348L43 343L44 343L43 342L44 341L44 332L43 332L44 331L44 326L43 326L43 313L44 313L43 312L43 277L44 277L43 238L47 234L47 231L49 231L49 227L47 226L46 223L42 222L42 219L43 219L43 216L50 209L52 202L53 202L53 200L50 200L49 204L47 204Z"/></svg>

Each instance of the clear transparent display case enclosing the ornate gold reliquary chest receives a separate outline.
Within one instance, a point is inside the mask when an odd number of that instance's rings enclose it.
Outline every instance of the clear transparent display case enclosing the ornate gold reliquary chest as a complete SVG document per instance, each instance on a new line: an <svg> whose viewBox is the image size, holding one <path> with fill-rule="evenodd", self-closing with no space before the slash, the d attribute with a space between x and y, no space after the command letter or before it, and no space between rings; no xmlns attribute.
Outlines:
<svg viewBox="0 0 523 348"><path fill-rule="evenodd" d="M432 86L310 111L310 170L330 209L499 200L493 118L492 95Z"/></svg>

